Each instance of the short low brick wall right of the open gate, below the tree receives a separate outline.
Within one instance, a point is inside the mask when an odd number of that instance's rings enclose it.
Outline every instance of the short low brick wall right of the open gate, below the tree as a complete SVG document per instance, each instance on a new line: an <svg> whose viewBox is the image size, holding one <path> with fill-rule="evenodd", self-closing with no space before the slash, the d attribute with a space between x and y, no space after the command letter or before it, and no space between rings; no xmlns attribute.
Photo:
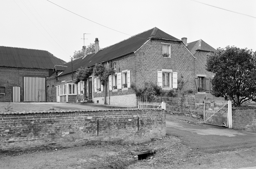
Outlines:
<svg viewBox="0 0 256 169"><path fill-rule="evenodd" d="M256 107L232 107L234 129L256 132Z"/></svg>

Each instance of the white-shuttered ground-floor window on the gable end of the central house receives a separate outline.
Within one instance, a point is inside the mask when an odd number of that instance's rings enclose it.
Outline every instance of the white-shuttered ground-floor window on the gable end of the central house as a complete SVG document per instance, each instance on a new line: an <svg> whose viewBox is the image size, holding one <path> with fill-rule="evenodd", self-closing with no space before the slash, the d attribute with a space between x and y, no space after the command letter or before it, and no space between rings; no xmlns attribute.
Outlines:
<svg viewBox="0 0 256 169"><path fill-rule="evenodd" d="M165 90L177 88L177 76L177 72L172 72L171 69L162 69L162 71L157 71L157 85L161 86Z"/></svg>

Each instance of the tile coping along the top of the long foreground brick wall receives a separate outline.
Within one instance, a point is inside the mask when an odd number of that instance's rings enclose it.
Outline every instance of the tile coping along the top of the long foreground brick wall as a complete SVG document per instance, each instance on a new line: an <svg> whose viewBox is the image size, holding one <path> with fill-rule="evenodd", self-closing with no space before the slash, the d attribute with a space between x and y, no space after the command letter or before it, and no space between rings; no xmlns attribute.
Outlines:
<svg viewBox="0 0 256 169"><path fill-rule="evenodd" d="M92 111L134 111L134 110L164 110L163 108L124 108L124 109L87 109L87 110L37 110L37 111L6 111L0 112L0 115L9 114L40 114L40 113L69 113L69 112L92 112Z"/></svg>

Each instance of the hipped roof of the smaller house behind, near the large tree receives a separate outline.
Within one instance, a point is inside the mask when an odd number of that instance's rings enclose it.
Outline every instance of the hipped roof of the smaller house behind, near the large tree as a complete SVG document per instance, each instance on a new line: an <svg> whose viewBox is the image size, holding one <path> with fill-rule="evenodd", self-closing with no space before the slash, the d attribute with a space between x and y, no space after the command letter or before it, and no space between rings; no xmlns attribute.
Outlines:
<svg viewBox="0 0 256 169"><path fill-rule="evenodd" d="M215 49L204 42L202 39L194 42L190 42L187 45L189 51L194 55L196 51L207 51L207 52L214 52Z"/></svg>

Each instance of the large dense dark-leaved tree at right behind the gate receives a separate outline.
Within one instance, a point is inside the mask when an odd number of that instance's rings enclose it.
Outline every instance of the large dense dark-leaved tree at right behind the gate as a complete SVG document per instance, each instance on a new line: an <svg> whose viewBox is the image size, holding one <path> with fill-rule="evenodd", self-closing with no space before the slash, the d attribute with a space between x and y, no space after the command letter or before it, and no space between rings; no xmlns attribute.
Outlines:
<svg viewBox="0 0 256 169"><path fill-rule="evenodd" d="M215 73L214 96L232 100L234 106L256 98L256 52L227 46L207 57L206 70Z"/></svg>

